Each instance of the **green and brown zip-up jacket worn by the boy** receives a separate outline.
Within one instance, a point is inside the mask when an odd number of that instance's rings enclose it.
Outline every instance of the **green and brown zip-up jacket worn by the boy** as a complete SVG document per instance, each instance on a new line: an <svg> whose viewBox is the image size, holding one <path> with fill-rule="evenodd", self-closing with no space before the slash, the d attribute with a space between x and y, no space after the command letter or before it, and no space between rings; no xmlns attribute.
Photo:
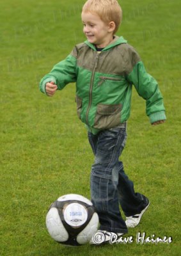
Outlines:
<svg viewBox="0 0 181 256"><path fill-rule="evenodd" d="M146 100L150 122L166 119L157 81L146 72L138 53L122 36L115 36L101 52L88 41L76 45L40 81L43 93L50 81L57 84L58 90L76 82L77 115L94 134L127 121L132 84Z"/></svg>

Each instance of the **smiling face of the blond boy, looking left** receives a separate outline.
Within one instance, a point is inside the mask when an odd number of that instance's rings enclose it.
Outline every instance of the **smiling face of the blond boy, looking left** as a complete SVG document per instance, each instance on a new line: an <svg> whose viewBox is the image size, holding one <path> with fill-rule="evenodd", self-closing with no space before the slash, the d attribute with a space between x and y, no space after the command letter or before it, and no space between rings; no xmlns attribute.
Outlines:
<svg viewBox="0 0 181 256"><path fill-rule="evenodd" d="M97 47L104 48L113 40L114 28L100 19L96 13L83 12L83 32L88 42ZM113 22L114 23L114 22Z"/></svg>

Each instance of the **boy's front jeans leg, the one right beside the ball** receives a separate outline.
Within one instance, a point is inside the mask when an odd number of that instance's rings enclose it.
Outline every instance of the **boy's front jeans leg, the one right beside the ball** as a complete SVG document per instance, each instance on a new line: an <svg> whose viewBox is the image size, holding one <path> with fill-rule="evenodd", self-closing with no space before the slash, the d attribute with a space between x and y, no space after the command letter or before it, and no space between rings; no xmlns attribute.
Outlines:
<svg viewBox="0 0 181 256"><path fill-rule="evenodd" d="M95 154L95 163L91 170L91 200L95 205L100 230L114 233L127 233L127 226L122 219L118 198L118 158L126 139L125 130L120 127L88 133L88 138Z"/></svg>

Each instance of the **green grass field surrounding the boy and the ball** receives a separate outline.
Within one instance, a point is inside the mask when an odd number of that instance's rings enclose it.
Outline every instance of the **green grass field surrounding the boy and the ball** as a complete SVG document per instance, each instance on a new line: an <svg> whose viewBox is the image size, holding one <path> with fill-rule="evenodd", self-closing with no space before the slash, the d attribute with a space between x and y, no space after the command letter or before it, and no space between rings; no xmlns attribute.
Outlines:
<svg viewBox="0 0 181 256"><path fill-rule="evenodd" d="M6 0L0 3L0 255L180 255L180 0L119 1L123 35L139 52L164 96L167 122L152 127L145 102L132 97L122 155L136 191L150 198L136 238L171 236L171 244L68 248L45 227L51 202L67 193L90 198L93 155L75 110L75 84L52 98L40 78L84 41L83 0Z"/></svg>

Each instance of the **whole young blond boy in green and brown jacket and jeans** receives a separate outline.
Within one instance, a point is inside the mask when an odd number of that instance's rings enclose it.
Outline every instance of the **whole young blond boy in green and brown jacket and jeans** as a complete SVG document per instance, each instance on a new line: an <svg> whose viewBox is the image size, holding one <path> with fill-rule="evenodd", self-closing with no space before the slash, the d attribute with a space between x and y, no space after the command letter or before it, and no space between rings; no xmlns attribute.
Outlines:
<svg viewBox="0 0 181 256"><path fill-rule="evenodd" d="M93 244L110 241L113 234L136 227L149 205L135 193L119 157L125 146L132 84L146 100L152 125L166 120L157 81L146 73L138 53L123 37L115 36L122 20L116 0L88 0L82 12L87 38L40 82L49 96L76 82L77 115L86 124L95 162L91 168L91 200L97 209L100 230ZM126 216L123 220L119 205Z"/></svg>

